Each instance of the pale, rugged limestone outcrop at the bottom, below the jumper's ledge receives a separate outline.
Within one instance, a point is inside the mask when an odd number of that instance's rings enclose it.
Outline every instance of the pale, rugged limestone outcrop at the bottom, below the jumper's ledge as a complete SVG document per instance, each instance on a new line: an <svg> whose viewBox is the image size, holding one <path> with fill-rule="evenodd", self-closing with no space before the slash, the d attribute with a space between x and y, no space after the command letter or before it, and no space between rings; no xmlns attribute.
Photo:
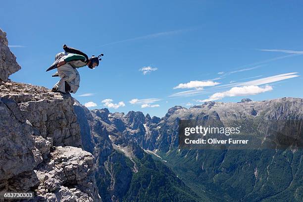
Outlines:
<svg viewBox="0 0 303 202"><path fill-rule="evenodd" d="M50 161L38 166L40 184L33 201L95 202L96 189L94 157L75 147L56 147L50 152ZM52 195L54 193L54 195Z"/></svg>

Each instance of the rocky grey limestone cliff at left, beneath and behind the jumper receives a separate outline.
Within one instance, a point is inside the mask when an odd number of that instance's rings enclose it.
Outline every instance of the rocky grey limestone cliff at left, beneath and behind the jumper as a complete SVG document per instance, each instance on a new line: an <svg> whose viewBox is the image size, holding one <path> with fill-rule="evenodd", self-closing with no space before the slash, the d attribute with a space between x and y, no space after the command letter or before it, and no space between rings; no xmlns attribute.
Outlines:
<svg viewBox="0 0 303 202"><path fill-rule="evenodd" d="M83 150L69 95L7 81L20 69L0 31L0 191L31 202L100 202L95 160Z"/></svg>

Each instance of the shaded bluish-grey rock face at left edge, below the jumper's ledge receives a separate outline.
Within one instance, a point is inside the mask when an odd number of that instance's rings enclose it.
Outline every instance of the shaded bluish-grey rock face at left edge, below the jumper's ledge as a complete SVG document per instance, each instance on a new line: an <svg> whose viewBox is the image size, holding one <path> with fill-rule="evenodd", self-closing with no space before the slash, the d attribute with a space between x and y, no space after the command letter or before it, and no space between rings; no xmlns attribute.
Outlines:
<svg viewBox="0 0 303 202"><path fill-rule="evenodd" d="M33 170L41 161L32 126L22 116L18 104L0 98L0 181Z"/></svg>

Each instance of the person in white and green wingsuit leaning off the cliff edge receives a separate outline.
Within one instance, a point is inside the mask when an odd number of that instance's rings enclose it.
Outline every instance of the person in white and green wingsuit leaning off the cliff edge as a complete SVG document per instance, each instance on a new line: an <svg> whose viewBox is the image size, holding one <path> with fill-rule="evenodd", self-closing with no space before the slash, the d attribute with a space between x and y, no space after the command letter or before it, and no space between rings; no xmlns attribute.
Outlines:
<svg viewBox="0 0 303 202"><path fill-rule="evenodd" d="M84 52L67 47L63 45L65 52L59 52L55 56L55 61L51 64L47 71L57 68L57 72L52 77L59 76L61 79L52 88L52 92L59 93L76 93L80 84L80 75L76 68L88 65L89 68L94 69L99 65L101 60L100 54L98 57L93 55L88 58Z"/></svg>

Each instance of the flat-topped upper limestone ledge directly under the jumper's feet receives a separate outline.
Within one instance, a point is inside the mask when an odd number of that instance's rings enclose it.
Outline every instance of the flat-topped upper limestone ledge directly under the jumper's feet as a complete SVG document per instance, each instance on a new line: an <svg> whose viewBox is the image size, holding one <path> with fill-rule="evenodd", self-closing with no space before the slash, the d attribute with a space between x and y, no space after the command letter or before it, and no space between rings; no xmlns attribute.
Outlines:
<svg viewBox="0 0 303 202"><path fill-rule="evenodd" d="M52 138L53 146L81 147L80 128L70 95L30 84L6 82L0 85L0 97L18 103L21 114L38 129L35 135Z"/></svg>

